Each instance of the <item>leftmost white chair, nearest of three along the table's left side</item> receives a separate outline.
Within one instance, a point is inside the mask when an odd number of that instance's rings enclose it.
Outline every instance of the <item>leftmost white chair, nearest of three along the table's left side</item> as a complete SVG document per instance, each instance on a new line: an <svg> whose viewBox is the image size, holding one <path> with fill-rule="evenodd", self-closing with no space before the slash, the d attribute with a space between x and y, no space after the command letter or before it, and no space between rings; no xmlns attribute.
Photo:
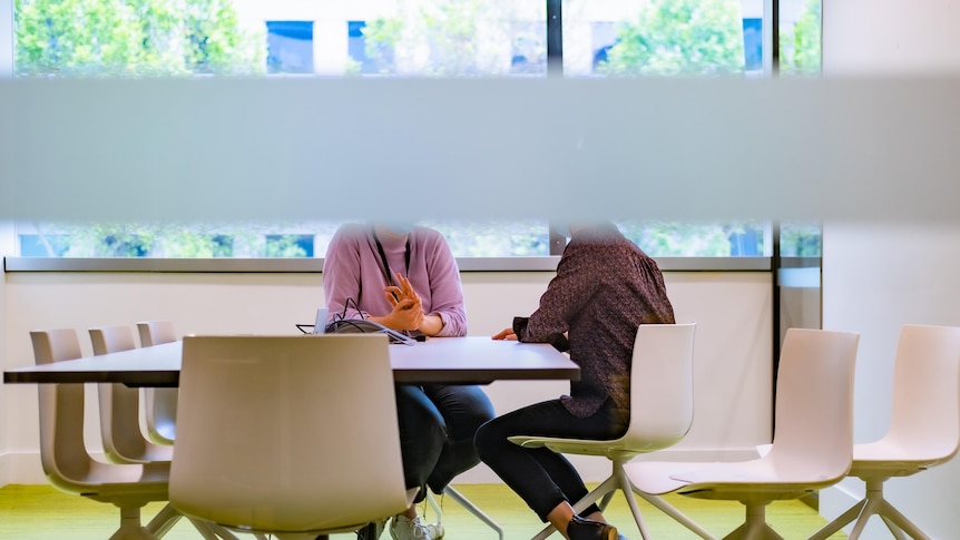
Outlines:
<svg viewBox="0 0 960 540"><path fill-rule="evenodd" d="M79 359L72 328L30 332L37 364ZM114 464L90 458L84 444L84 384L40 384L40 459L56 488L120 509L120 527L111 540L155 539L173 517L161 512L146 528L140 509L167 500L169 462ZM69 531L65 531L68 534Z"/></svg>

